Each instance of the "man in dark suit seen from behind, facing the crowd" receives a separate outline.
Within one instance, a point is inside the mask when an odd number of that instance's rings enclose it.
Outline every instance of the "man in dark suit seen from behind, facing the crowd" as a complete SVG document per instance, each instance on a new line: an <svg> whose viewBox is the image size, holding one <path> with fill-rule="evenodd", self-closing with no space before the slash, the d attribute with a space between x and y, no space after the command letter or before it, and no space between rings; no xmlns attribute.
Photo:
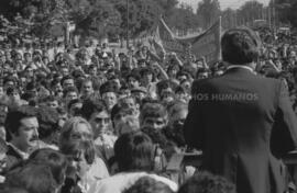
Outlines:
<svg viewBox="0 0 297 193"><path fill-rule="evenodd" d="M202 150L202 168L232 181L238 193L283 193L279 158L297 147L288 91L280 80L255 75L253 31L227 31L221 47L228 69L194 82L185 139Z"/></svg>

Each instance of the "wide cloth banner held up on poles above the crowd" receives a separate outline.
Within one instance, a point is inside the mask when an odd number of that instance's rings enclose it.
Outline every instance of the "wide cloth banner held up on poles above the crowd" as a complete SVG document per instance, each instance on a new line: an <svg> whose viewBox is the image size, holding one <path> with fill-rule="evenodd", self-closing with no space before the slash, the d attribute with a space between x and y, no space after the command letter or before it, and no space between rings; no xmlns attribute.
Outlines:
<svg viewBox="0 0 297 193"><path fill-rule="evenodd" d="M178 56L187 55L188 49L196 58L205 57L211 64L221 59L221 19L210 29L194 37L176 37L163 19L153 34L153 45L157 55L161 50L176 53ZM190 46L189 46L190 45Z"/></svg>

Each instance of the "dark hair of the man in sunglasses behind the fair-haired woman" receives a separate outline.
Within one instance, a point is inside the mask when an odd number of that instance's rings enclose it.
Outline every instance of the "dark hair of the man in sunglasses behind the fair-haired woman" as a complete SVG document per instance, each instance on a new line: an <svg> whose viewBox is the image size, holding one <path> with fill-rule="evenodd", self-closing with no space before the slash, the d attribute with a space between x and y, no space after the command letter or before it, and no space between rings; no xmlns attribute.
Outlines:
<svg viewBox="0 0 297 193"><path fill-rule="evenodd" d="M103 111L108 112L108 109L107 109L105 101L87 99L82 103L80 113L81 113L82 117L85 117L86 120L90 120L92 113L95 113L95 112L100 113Z"/></svg>

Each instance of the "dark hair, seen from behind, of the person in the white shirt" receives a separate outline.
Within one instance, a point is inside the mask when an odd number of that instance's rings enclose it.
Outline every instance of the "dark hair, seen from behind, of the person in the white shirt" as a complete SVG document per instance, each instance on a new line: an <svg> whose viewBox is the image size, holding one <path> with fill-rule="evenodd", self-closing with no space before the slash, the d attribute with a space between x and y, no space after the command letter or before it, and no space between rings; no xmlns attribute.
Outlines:
<svg viewBox="0 0 297 193"><path fill-rule="evenodd" d="M114 144L114 156L120 171L152 171L154 145L142 132L121 135Z"/></svg>

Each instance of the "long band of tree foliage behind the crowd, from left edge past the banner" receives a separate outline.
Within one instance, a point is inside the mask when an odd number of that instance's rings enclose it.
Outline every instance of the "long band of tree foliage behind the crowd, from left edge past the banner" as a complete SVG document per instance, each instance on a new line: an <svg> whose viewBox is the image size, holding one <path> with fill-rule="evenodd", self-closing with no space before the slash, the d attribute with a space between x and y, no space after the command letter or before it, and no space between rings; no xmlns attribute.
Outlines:
<svg viewBox="0 0 297 193"><path fill-rule="evenodd" d="M198 25L190 7L177 5L178 0L1 0L0 12L12 26L25 29L22 33L41 38L64 35L69 21L82 36L124 37L129 29L130 37L136 37L152 30L161 15L176 29ZM33 25L18 23L18 14Z"/></svg>

